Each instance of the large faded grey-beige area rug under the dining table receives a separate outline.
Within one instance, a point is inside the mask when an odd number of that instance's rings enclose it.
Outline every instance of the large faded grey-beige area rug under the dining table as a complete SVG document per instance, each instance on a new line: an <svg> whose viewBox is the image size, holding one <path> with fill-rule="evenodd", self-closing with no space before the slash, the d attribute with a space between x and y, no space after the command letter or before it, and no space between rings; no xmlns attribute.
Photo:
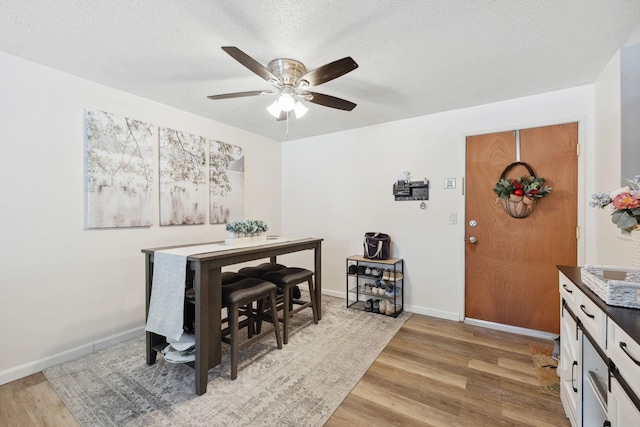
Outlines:
<svg viewBox="0 0 640 427"><path fill-rule="evenodd" d="M146 364L144 337L44 374L83 426L321 426L409 316L347 309L344 299L323 296L317 325L304 310L282 350L270 337L242 351L236 380L223 344L202 396L189 366L161 355Z"/></svg>

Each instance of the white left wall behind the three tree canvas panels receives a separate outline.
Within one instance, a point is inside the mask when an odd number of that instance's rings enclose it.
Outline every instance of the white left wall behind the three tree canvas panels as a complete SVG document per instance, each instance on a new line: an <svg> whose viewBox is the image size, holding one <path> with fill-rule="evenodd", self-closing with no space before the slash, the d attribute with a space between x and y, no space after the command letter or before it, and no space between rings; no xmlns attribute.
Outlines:
<svg viewBox="0 0 640 427"><path fill-rule="evenodd" d="M84 108L244 148L245 213L280 231L281 145L0 53L0 384L144 325L142 248L224 226L84 229ZM157 182L157 181L156 181Z"/></svg>

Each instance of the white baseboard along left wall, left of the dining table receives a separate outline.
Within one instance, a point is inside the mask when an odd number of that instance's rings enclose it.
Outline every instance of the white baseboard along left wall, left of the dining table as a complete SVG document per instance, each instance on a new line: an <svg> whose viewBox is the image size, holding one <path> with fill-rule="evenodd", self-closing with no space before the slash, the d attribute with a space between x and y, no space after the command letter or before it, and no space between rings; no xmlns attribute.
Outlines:
<svg viewBox="0 0 640 427"><path fill-rule="evenodd" d="M128 331L120 332L110 337L102 338L81 346L57 353L51 356L47 356L42 359L35 360L33 362L25 363L24 365L16 366L11 369L0 372L0 385L9 383L11 381L18 380L20 378L27 377L29 375L40 372L51 366L59 365L60 363L67 362L69 360L77 359L85 354L93 353L103 348L110 347L112 345L130 340L144 334L144 326L140 326Z"/></svg>

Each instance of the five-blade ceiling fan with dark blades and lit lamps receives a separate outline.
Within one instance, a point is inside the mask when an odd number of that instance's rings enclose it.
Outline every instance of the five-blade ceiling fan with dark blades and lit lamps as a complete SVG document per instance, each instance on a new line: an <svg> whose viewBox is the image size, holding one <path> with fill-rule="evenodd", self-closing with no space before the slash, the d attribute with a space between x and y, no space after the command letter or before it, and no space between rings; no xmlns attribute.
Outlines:
<svg viewBox="0 0 640 427"><path fill-rule="evenodd" d="M269 113L278 120L287 119L289 117L289 112L292 110L296 114L297 118L306 114L308 108L305 107L300 100L344 111L351 111L356 106L356 104L347 101L346 99L308 90L312 86L319 86L358 68L358 64L349 56L330 62L314 70L307 71L304 64L300 61L296 61L295 59L274 59L264 67L237 47L223 46L222 50L249 70L253 71L259 77L273 85L274 90L252 90L248 92L225 93L221 95L208 96L207 98L209 99L241 98L255 95L278 95L278 99L267 108Z"/></svg>

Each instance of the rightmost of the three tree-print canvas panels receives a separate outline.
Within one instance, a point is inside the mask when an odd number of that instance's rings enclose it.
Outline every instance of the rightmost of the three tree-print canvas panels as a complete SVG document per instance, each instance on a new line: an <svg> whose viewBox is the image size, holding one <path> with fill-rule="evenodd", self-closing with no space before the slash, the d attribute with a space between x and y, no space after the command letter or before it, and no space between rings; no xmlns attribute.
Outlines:
<svg viewBox="0 0 640 427"><path fill-rule="evenodd" d="M244 153L242 147L211 141L209 149L211 224L244 219Z"/></svg>

